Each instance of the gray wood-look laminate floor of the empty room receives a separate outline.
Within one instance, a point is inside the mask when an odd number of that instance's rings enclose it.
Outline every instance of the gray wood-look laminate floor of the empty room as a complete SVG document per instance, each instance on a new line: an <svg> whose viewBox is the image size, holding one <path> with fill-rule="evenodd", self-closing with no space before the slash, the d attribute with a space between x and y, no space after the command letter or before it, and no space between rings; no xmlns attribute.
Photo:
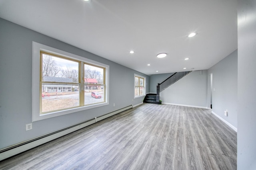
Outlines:
<svg viewBox="0 0 256 170"><path fill-rule="evenodd" d="M237 135L211 110L142 104L0 162L0 170L236 170Z"/></svg>

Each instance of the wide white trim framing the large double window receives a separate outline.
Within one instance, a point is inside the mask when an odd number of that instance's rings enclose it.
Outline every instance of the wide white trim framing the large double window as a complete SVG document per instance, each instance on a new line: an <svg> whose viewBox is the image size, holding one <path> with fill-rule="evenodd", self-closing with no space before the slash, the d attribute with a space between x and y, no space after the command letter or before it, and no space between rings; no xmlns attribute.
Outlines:
<svg viewBox="0 0 256 170"><path fill-rule="evenodd" d="M105 86L106 86L106 98L104 103L94 104L90 106L81 106L72 109L66 109L63 111L55 111L51 113L41 114L40 115L40 51L46 51L49 53L53 53L56 55L62 55L64 57L84 61L89 64L93 64L96 66L101 66L105 68ZM82 111L86 109L92 109L95 107L106 106L109 104L109 66L106 64L99 63L97 61L93 61L90 59L86 59L84 57L74 55L72 53L68 53L66 51L62 51L59 49L55 49L53 47L49 47L47 45L43 45L40 43L32 42L32 122L40 121L43 119L48 119L51 117L56 117L60 115L66 115L69 113L74 113L77 111Z"/></svg>

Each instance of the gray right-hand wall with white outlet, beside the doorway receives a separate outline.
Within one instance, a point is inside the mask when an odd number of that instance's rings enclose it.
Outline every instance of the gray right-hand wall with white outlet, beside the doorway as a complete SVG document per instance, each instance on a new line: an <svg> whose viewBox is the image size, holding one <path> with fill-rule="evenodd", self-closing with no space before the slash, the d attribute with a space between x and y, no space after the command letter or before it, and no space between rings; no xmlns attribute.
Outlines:
<svg viewBox="0 0 256 170"><path fill-rule="evenodd" d="M212 74L212 111L237 128L237 50L208 69L208 83L209 74ZM208 107L209 92L210 90ZM226 109L228 117L224 116Z"/></svg>

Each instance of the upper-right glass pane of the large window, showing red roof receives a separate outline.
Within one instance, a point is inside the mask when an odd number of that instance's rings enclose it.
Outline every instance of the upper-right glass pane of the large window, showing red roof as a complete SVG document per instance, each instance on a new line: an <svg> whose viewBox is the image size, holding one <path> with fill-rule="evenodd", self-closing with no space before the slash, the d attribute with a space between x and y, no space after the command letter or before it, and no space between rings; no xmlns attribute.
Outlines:
<svg viewBox="0 0 256 170"><path fill-rule="evenodd" d="M84 84L104 84L104 69L84 64Z"/></svg>

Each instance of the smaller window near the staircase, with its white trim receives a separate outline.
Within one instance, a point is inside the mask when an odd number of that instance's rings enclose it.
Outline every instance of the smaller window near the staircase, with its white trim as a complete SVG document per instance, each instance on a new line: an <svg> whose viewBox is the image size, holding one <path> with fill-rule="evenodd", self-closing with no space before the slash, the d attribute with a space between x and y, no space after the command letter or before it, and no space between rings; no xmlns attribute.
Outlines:
<svg viewBox="0 0 256 170"><path fill-rule="evenodd" d="M134 74L134 98L145 96L146 77Z"/></svg>

